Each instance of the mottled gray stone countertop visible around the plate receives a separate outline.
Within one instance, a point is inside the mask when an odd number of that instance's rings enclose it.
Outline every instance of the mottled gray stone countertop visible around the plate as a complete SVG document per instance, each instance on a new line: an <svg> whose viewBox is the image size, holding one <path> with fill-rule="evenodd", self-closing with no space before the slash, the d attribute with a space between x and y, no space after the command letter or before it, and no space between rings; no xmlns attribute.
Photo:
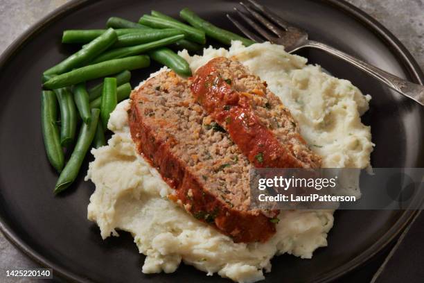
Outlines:
<svg viewBox="0 0 424 283"><path fill-rule="evenodd" d="M68 0L1 0L0 53L48 12ZM405 44L421 68L424 67L424 0L348 0L386 26ZM38 268L0 232L0 282L17 282L4 277L12 268ZM19 280L19 282L29 282Z"/></svg>

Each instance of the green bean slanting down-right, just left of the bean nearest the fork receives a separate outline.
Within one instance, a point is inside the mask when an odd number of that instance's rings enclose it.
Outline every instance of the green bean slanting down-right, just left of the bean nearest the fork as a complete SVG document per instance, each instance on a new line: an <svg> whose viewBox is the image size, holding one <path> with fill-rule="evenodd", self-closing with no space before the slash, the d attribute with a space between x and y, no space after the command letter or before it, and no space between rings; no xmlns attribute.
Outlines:
<svg viewBox="0 0 424 283"><path fill-rule="evenodd" d="M204 31L193 28L193 26L188 26L179 22L170 21L169 19L161 19L150 15L143 15L143 17L140 18L139 23L145 24L146 26L150 26L152 28L177 28L179 31L182 31L184 35L186 35L187 40L192 40L193 42L200 44L206 43Z"/></svg>

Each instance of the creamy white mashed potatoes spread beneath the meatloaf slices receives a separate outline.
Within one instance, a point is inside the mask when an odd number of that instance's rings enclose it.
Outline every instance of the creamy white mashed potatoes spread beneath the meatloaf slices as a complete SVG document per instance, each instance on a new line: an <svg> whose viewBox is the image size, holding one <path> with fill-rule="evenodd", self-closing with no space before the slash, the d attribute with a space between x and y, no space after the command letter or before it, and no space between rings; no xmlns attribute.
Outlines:
<svg viewBox="0 0 424 283"><path fill-rule="evenodd" d="M347 80L328 76L306 59L285 53L269 43L245 48L233 42L230 50L205 49L204 56L181 53L193 71L216 56L235 56L250 71L267 81L299 122L312 150L326 167L369 166L372 151L370 128L360 121L369 96ZM276 234L267 243L233 241L187 214L168 200L171 189L143 157L136 154L127 121L129 101L111 114L114 135L107 146L93 149L95 160L87 180L96 185L88 218L100 227L103 239L116 230L130 232L139 252L146 255L143 273L174 272L181 261L236 282L263 280L271 271L270 259L285 252L311 258L327 246L333 211L284 211Z"/></svg>

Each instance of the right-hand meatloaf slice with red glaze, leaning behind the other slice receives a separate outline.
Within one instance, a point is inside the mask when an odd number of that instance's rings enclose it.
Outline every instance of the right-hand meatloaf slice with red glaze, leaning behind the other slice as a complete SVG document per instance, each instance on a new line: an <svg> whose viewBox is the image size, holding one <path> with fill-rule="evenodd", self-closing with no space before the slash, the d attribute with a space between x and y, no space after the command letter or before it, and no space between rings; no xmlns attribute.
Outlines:
<svg viewBox="0 0 424 283"><path fill-rule="evenodd" d="M289 110L240 62L209 61L191 78L191 89L256 167L320 166L321 158L310 151Z"/></svg>

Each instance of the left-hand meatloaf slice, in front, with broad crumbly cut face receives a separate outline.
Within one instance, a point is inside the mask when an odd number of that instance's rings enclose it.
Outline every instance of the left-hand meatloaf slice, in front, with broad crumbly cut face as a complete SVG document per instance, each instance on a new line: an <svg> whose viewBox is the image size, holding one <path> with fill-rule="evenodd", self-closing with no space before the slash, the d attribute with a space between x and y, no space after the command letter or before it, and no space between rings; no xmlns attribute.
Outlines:
<svg viewBox="0 0 424 283"><path fill-rule="evenodd" d="M175 189L169 198L235 242L266 241L277 211L250 210L251 163L195 103L173 71L132 92L130 130L136 148Z"/></svg>

